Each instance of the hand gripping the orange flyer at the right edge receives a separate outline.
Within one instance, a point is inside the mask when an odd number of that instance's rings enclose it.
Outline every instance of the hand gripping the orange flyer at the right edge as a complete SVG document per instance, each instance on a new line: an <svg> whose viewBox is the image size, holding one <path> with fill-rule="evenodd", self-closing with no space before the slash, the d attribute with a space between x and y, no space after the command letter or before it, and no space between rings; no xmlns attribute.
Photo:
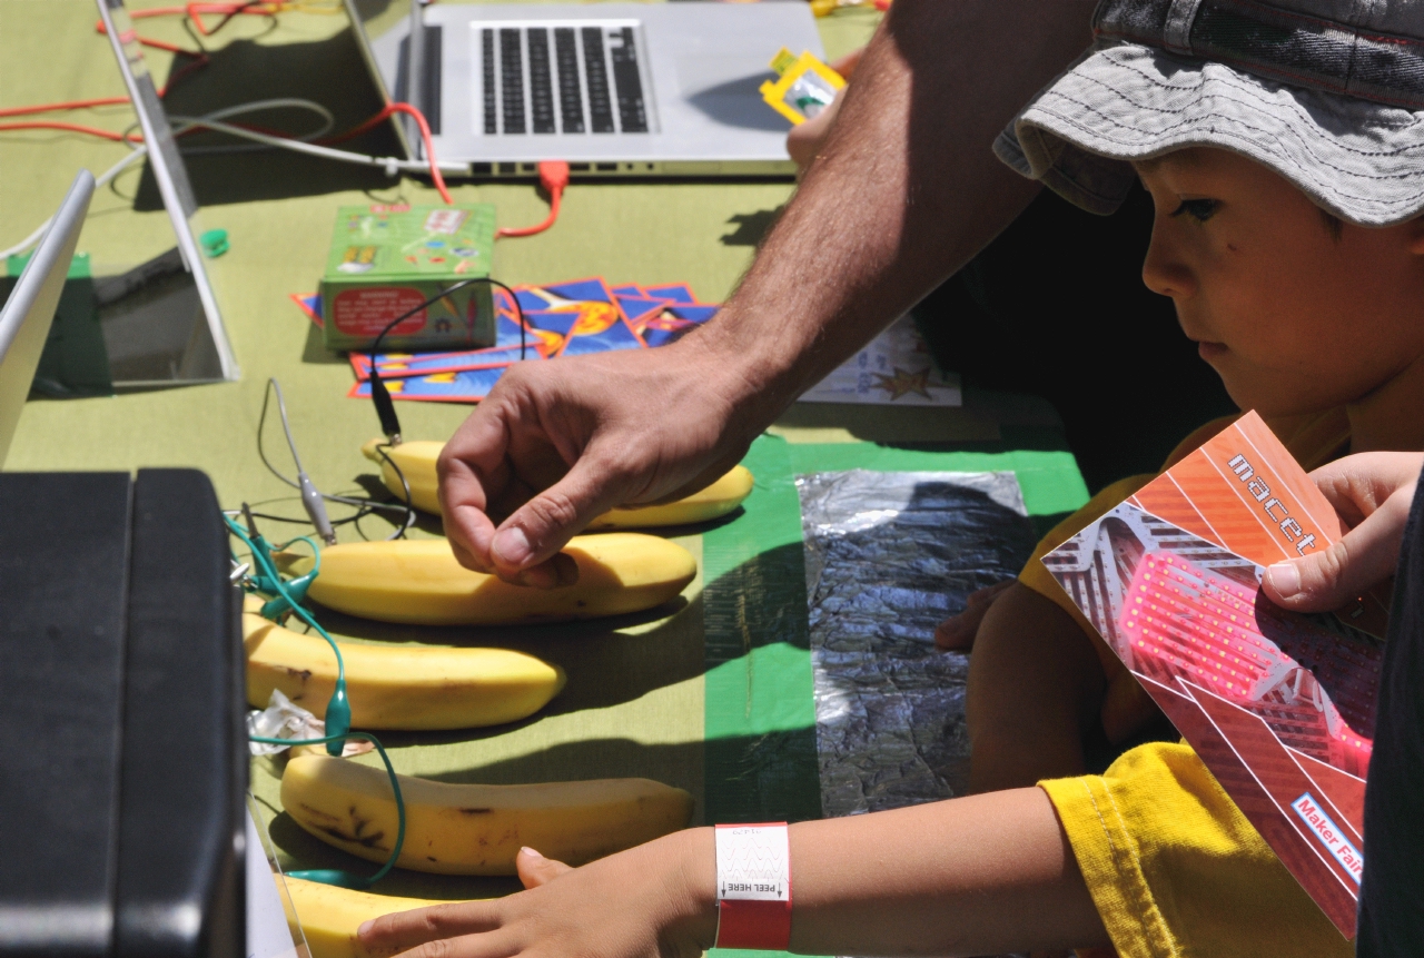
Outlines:
<svg viewBox="0 0 1424 958"><path fill-rule="evenodd" d="M1421 465L1420 453L1360 453L1312 473L1350 531L1323 552L1266 569L1266 596L1297 612L1327 612L1393 575Z"/></svg>

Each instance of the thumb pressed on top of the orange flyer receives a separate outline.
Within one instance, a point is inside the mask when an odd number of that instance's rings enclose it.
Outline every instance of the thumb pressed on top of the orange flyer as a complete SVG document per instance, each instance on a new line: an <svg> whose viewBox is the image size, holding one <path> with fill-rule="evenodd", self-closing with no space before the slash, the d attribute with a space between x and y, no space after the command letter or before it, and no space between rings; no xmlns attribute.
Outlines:
<svg viewBox="0 0 1424 958"><path fill-rule="evenodd" d="M1396 490L1330 548L1266 569L1266 596L1296 612L1329 612L1394 574L1414 498L1414 483Z"/></svg>

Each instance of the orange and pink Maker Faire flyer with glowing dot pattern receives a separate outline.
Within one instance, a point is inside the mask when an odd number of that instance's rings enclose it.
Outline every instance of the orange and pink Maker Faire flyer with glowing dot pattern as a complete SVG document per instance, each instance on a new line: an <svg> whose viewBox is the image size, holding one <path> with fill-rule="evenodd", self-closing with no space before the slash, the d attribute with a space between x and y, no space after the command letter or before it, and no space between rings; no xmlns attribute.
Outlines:
<svg viewBox="0 0 1424 958"><path fill-rule="evenodd" d="M1292 875L1354 937L1384 605L1297 615L1265 567L1340 521L1247 413L1044 565Z"/></svg>

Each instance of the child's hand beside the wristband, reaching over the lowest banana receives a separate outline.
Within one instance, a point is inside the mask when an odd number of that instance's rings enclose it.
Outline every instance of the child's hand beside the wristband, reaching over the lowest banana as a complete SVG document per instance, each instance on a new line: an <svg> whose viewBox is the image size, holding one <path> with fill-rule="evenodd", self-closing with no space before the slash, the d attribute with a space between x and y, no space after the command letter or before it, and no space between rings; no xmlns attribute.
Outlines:
<svg viewBox="0 0 1424 958"><path fill-rule="evenodd" d="M712 830L679 831L582 868L524 848L527 891L383 915L362 925L370 954L410 958L698 958L716 935Z"/></svg>

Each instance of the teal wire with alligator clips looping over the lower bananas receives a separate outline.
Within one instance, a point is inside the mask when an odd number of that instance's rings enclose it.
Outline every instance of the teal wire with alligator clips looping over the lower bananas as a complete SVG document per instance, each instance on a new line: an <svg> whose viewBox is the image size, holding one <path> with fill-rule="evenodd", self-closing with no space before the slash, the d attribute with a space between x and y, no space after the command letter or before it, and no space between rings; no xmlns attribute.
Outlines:
<svg viewBox="0 0 1424 958"><path fill-rule="evenodd" d="M252 742L261 744L281 744L281 746L296 746L296 744L325 744L326 754L337 757L342 753L342 746L346 739L365 739L370 742L376 752L380 753L380 760L386 766L386 774L390 779L390 790L396 796L396 843L390 850L390 857L386 863L370 877L362 877L352 874L349 871L342 871L336 868L315 868L308 871L292 871L289 874L298 878L306 878L308 881L319 881L330 885L340 885L343 888L369 888L382 878L384 878L390 870L396 865L400 858L400 850L406 843L406 801L400 794L400 779L396 777L396 769L390 764L390 756L386 754L384 746L380 740L369 732L352 732L350 727L350 702L346 698L346 662L342 658L342 649L336 643L336 639L320 626L320 623L308 612L300 599L293 596L288 584L282 581L281 572L278 572L276 565L272 562L273 547L256 531L256 524L252 521L251 510L244 508L244 514L248 518L248 530L244 531L231 517L224 514L222 521L228 527L228 532L235 535L241 541L252 557L252 562L258 569L256 582L259 588L266 592L275 592L286 609L290 609L299 619L306 622L308 626L316 631L329 646L332 646L332 653L336 656L336 688L332 692L330 700L326 703L326 727L332 733L322 736L320 739L273 739L263 736L248 736ZM251 535L249 535L251 532ZM295 542L298 539L292 539ZM316 552L318 567L313 569L315 575L320 569L320 549L309 538L303 537L303 541L312 545ZM290 545L292 542L283 544Z"/></svg>

